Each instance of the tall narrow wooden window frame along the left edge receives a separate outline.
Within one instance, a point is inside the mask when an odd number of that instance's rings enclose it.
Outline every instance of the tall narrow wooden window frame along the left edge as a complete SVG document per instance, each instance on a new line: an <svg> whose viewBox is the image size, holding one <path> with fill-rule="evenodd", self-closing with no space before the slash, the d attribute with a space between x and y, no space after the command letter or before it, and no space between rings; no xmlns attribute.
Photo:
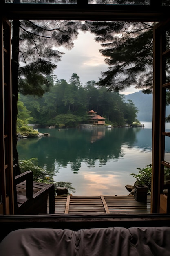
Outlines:
<svg viewBox="0 0 170 256"><path fill-rule="evenodd" d="M1 92L0 92L0 213L13 214L13 153L11 93L11 24L1 26Z"/></svg>

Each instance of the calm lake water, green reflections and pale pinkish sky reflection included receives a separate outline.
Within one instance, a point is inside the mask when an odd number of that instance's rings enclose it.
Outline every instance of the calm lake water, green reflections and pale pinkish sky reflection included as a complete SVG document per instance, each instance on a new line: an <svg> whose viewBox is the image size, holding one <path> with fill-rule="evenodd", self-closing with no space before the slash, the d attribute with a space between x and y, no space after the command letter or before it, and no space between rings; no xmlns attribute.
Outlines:
<svg viewBox="0 0 170 256"><path fill-rule="evenodd" d="M128 195L130 173L151 164L152 123L141 123L144 128L39 129L50 137L20 139L19 159L37 158L56 182L72 182L73 195Z"/></svg>

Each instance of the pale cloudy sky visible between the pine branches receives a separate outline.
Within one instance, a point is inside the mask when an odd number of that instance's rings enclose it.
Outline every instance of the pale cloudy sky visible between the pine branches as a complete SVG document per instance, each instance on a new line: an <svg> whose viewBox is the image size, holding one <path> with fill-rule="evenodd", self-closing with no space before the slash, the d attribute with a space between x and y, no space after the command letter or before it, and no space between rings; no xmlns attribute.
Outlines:
<svg viewBox="0 0 170 256"><path fill-rule="evenodd" d="M99 49L102 47L95 42L94 35L90 32L79 31L78 39L74 41L74 48L67 50L64 47L57 48L64 52L62 61L57 63L55 74L58 79L70 80L73 73L76 73L82 85L94 80L98 81L102 71L108 70L108 65L104 62L104 56L101 56ZM121 94L130 94L139 90L134 87L121 91Z"/></svg>

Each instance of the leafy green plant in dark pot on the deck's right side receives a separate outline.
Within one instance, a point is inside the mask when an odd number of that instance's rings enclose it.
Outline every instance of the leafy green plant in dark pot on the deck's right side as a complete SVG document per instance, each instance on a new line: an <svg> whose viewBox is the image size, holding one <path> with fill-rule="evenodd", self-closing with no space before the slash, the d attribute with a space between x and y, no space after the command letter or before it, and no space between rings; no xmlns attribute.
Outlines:
<svg viewBox="0 0 170 256"><path fill-rule="evenodd" d="M147 195L151 192L151 175L152 175L152 165L146 165L146 168L137 168L138 173L131 173L136 179L134 184L134 198L138 202L147 201Z"/></svg>

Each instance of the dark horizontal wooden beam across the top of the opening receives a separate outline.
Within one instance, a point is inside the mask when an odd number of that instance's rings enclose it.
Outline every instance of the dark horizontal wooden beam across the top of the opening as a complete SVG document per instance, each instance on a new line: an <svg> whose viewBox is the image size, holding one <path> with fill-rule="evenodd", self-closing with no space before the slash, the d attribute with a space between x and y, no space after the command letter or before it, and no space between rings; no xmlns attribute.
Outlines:
<svg viewBox="0 0 170 256"><path fill-rule="evenodd" d="M115 20L161 21L170 6L118 4L13 4L1 2L2 15L9 20Z"/></svg>

